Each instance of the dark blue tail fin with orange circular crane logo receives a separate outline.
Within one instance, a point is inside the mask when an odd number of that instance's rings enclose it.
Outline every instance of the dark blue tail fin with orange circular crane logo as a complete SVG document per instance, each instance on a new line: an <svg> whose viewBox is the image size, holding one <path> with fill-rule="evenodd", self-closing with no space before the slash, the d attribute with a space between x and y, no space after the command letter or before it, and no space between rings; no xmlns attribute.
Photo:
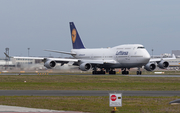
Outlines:
<svg viewBox="0 0 180 113"><path fill-rule="evenodd" d="M71 30L73 49L85 49L74 23L69 22L69 24Z"/></svg>

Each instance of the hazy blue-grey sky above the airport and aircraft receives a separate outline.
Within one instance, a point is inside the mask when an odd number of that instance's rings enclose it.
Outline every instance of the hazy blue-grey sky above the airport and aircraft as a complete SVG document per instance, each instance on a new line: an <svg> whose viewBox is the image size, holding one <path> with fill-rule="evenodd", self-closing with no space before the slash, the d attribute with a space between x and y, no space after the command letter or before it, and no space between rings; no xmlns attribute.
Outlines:
<svg viewBox="0 0 180 113"><path fill-rule="evenodd" d="M62 56L72 49L69 22L86 48L143 44L159 55L180 50L179 0L0 0L0 57Z"/></svg>

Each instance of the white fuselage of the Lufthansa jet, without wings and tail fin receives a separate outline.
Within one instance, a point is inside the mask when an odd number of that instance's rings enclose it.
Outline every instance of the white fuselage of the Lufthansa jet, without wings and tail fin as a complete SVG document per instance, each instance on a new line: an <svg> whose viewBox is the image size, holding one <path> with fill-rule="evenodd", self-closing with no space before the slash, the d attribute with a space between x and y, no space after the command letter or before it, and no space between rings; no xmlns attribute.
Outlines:
<svg viewBox="0 0 180 113"><path fill-rule="evenodd" d="M72 49L74 58L86 60L115 61L115 64L108 65L112 68L141 67L150 60L150 55L141 44L119 45L112 48L102 49Z"/></svg>

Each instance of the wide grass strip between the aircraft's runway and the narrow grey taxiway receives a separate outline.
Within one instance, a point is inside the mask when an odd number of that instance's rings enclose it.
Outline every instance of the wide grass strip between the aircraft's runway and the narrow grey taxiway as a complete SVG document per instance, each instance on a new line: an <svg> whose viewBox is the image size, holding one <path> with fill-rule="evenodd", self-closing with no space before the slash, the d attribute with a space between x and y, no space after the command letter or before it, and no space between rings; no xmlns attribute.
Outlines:
<svg viewBox="0 0 180 113"><path fill-rule="evenodd" d="M0 90L177 91L180 89L179 81L180 77L131 77L115 75L1 75Z"/></svg>

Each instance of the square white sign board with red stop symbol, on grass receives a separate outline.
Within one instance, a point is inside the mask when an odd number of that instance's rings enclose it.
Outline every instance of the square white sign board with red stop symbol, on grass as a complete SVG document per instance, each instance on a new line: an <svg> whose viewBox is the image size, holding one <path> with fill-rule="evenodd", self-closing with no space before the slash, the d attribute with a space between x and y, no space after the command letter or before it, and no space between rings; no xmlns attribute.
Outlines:
<svg viewBox="0 0 180 113"><path fill-rule="evenodd" d="M121 93L110 93L109 94L109 106L110 107L122 106L122 94Z"/></svg>

